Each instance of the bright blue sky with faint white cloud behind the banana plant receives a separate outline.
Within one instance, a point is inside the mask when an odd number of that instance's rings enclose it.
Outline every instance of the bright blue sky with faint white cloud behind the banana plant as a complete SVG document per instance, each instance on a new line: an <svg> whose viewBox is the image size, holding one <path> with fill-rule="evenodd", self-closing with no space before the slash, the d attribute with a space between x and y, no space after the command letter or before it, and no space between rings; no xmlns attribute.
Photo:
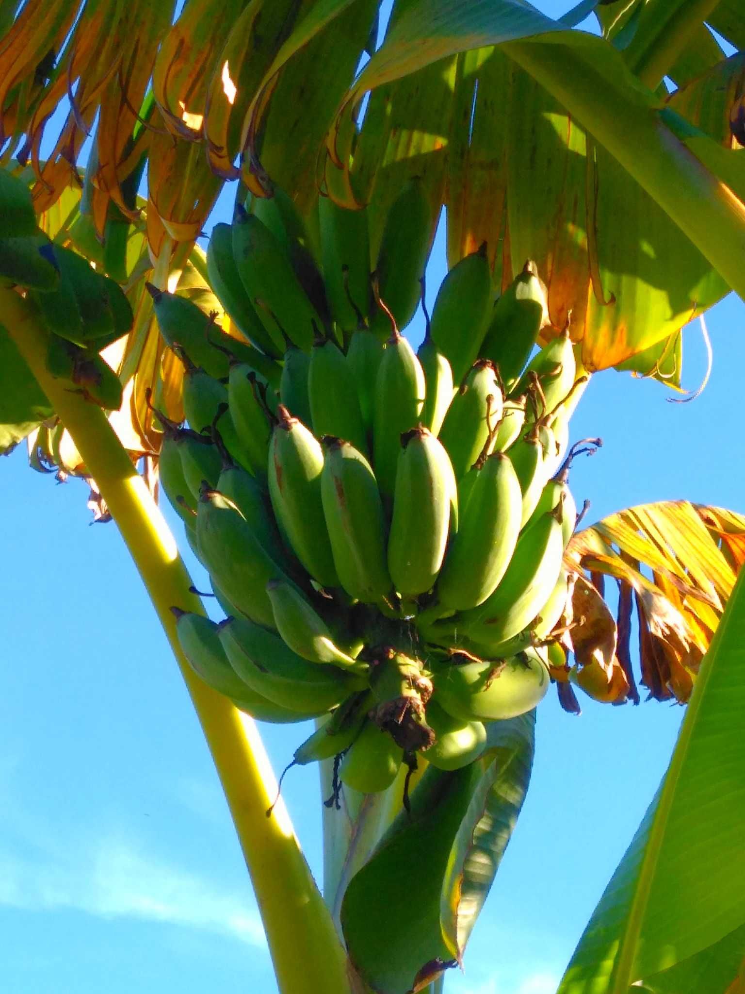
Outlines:
<svg viewBox="0 0 745 994"><path fill-rule="evenodd" d="M564 5L539 4L549 13ZM214 220L218 220L217 218ZM674 247L671 247L674 250ZM428 284L444 273L442 239ZM685 497L745 512L742 303L708 316L704 394L598 375L572 423L603 449L572 476L590 520ZM421 335L421 321L409 329ZM684 379L700 381L697 325ZM8 994L276 990L215 771L154 612L113 525L89 525L85 489L0 466L6 523L0 728L0 988ZM166 508L198 585L206 580ZM521 820L449 994L553 994L582 927L664 772L681 709L541 705ZM262 726L275 768L305 727ZM315 769L284 796L317 877Z"/></svg>

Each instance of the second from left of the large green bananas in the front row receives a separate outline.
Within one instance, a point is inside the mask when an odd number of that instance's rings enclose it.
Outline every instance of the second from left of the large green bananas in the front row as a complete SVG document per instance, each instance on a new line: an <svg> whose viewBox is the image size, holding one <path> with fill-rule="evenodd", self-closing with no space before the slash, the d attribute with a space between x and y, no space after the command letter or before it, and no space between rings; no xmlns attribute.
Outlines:
<svg viewBox="0 0 745 994"><path fill-rule="evenodd" d="M325 435L321 497L334 566L357 600L375 603L392 591L385 562L386 527L373 469L362 452Z"/></svg>

